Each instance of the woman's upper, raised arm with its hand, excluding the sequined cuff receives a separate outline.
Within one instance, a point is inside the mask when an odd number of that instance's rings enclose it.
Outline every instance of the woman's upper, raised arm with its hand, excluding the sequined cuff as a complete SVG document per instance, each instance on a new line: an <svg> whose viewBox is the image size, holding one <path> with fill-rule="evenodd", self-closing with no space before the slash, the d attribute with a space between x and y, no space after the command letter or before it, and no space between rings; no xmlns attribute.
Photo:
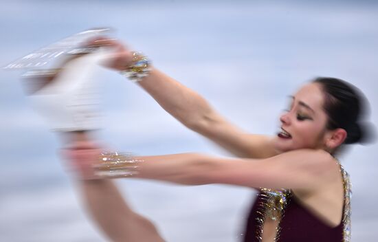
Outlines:
<svg viewBox="0 0 378 242"><path fill-rule="evenodd" d="M115 54L107 67L121 71L130 65L131 52L119 41L98 39L96 45L110 45ZM227 151L239 157L266 158L276 155L271 137L242 131L217 113L197 92L182 85L159 70L152 68L150 74L138 83L170 115Z"/></svg>

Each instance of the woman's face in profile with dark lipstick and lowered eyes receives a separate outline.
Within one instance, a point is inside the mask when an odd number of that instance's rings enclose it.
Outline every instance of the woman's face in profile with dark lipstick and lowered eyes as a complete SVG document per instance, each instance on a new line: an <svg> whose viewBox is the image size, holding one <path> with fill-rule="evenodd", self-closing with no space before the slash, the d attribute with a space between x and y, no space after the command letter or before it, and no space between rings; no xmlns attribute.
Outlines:
<svg viewBox="0 0 378 242"><path fill-rule="evenodd" d="M289 110L280 117L281 129L274 139L276 150L324 148L327 115L320 84L304 85L290 102Z"/></svg>

